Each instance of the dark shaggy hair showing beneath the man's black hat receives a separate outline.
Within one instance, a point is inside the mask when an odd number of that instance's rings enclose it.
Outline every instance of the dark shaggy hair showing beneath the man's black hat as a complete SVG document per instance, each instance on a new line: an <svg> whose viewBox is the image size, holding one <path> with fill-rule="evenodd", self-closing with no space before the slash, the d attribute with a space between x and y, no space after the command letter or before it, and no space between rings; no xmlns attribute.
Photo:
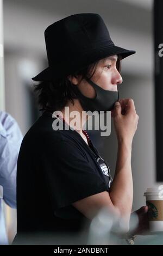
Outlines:
<svg viewBox="0 0 163 256"><path fill-rule="evenodd" d="M99 61L100 60L71 75L80 75L82 77L80 81L85 77L91 78L97 70ZM121 56L118 55L116 68L119 72L121 71L120 61ZM54 112L61 110L67 105L68 101L73 103L73 99L78 99L76 86L68 80L68 77L61 77L56 81L46 81L34 84L34 92L36 92L38 97L38 103L41 107L40 111L49 110Z"/></svg>

